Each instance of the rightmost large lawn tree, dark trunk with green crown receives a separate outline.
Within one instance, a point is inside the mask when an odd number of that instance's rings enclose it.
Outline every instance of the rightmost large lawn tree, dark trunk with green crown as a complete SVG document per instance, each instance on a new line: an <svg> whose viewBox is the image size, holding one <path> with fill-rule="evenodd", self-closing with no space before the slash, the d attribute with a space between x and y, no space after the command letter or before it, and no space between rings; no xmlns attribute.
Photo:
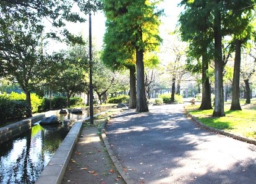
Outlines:
<svg viewBox="0 0 256 184"><path fill-rule="evenodd" d="M249 1L241 1L236 0L233 3L228 4L228 17L230 32L233 33L233 42L234 42L234 51L235 51L235 59L234 59L234 74L233 74L233 83L232 83L232 102L231 108L232 111L241 111L240 106L240 70L241 70L241 48L247 40L250 39L251 33L254 29L252 25L252 20L254 20L254 0ZM236 22L236 23L234 23Z"/></svg>

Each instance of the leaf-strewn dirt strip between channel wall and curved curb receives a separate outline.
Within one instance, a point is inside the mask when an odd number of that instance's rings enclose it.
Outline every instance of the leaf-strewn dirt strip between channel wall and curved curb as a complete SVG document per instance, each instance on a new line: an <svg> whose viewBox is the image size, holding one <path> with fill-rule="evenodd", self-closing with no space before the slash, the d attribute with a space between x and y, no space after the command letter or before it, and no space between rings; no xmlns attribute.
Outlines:
<svg viewBox="0 0 256 184"><path fill-rule="evenodd" d="M126 183L114 167L98 132L96 125L82 128L62 183Z"/></svg>

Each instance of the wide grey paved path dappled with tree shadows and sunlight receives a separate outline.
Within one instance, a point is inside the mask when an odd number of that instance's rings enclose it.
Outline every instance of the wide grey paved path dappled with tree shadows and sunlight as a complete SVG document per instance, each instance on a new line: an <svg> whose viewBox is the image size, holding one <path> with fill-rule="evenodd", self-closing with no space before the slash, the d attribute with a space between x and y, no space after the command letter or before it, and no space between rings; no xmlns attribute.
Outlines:
<svg viewBox="0 0 256 184"><path fill-rule="evenodd" d="M106 136L134 183L256 183L256 146L198 128L182 105L120 112Z"/></svg>

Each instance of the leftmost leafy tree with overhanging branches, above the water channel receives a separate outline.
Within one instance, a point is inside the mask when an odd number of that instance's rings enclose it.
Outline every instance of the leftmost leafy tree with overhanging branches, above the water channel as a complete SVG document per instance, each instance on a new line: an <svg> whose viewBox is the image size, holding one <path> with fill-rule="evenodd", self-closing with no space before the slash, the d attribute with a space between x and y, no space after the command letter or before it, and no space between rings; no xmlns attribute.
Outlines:
<svg viewBox="0 0 256 184"><path fill-rule="evenodd" d="M79 14L70 12L72 1L1 1L0 2L0 66L1 76L17 81L27 95L31 109L30 92L43 80L42 73L48 57L40 48L43 36L43 18L60 30L64 21L84 21ZM90 7L84 7L90 9ZM46 36L60 40L58 33L49 31ZM81 36L74 36L62 29L64 40L82 43ZM32 116L32 111L27 112Z"/></svg>

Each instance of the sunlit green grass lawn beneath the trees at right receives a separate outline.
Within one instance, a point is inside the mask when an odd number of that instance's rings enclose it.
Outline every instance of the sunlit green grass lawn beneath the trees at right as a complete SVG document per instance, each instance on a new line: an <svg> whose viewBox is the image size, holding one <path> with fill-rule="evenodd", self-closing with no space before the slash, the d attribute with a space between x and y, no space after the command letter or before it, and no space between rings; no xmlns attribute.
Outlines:
<svg viewBox="0 0 256 184"><path fill-rule="evenodd" d="M230 106L231 102L225 102L225 117L211 117L213 110L200 111L199 105L188 105L186 110L208 127L256 139L256 99L252 99L251 104L245 104L242 100L242 111L229 111Z"/></svg>

